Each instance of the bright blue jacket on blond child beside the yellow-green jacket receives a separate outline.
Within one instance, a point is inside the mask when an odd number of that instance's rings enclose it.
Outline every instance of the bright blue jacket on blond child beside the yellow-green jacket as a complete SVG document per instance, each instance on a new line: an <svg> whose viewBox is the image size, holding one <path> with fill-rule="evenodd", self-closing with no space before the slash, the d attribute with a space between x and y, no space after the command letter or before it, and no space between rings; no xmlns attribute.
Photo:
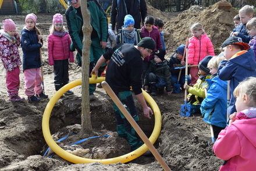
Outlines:
<svg viewBox="0 0 256 171"><path fill-rule="evenodd" d="M209 83L209 89L200 108L204 122L218 127L226 127L227 81L222 81L219 76L206 81Z"/></svg>

